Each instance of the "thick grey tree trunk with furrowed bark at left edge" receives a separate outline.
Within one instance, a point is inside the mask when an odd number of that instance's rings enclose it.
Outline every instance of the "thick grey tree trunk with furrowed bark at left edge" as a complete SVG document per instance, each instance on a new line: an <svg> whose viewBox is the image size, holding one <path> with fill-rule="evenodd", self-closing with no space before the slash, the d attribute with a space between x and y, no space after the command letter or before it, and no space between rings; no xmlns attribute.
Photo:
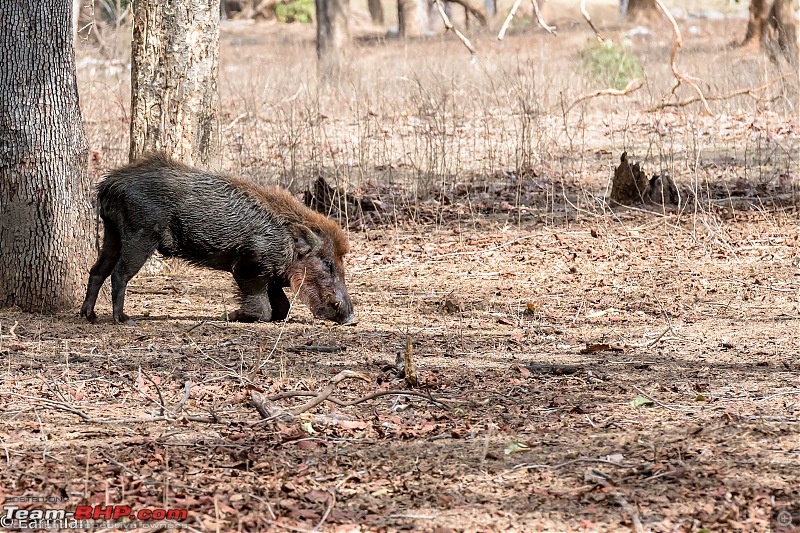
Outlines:
<svg viewBox="0 0 800 533"><path fill-rule="evenodd" d="M93 255L71 6L0 3L0 307L69 309Z"/></svg>

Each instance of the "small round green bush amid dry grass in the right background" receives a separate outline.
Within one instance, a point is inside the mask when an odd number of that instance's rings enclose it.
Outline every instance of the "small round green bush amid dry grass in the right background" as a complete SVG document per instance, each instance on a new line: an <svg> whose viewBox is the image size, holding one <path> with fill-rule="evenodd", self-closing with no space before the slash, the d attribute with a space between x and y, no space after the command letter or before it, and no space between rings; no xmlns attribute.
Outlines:
<svg viewBox="0 0 800 533"><path fill-rule="evenodd" d="M644 72L627 39L621 43L611 39L602 43L588 41L579 54L586 74L607 87L624 89L628 82L641 78Z"/></svg>

